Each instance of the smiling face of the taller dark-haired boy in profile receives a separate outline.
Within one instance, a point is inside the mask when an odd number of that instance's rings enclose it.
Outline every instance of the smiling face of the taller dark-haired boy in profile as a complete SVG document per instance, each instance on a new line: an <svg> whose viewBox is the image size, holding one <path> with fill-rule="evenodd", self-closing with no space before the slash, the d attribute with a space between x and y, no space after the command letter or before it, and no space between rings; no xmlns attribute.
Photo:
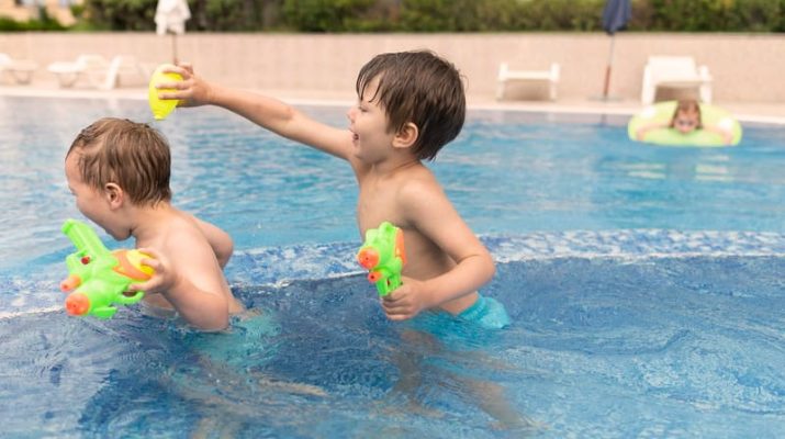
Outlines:
<svg viewBox="0 0 785 439"><path fill-rule="evenodd" d="M370 101L378 87L378 78L368 83L362 97L358 97L357 105L346 114L354 136L355 155L365 162L384 158L394 138L394 133L388 131L386 112L378 102Z"/></svg>

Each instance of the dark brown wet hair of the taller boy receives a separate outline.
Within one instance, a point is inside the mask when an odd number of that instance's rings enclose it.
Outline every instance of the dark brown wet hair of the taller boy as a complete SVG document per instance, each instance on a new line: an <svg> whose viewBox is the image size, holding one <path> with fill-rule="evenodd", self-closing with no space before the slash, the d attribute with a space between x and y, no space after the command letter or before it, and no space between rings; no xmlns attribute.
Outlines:
<svg viewBox="0 0 785 439"><path fill-rule="evenodd" d="M420 160L433 160L463 127L466 95L460 74L434 53L377 55L357 77L360 99L374 79L379 87L369 101L384 109L389 131L397 132L408 122L417 125L419 135L412 147Z"/></svg>

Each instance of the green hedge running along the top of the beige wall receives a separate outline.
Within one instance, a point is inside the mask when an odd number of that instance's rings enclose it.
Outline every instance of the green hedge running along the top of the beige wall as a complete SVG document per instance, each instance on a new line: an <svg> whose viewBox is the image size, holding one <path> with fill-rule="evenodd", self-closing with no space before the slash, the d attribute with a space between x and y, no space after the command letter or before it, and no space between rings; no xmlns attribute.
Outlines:
<svg viewBox="0 0 785 439"><path fill-rule="evenodd" d="M157 0L85 0L78 30L152 31ZM189 0L188 31L584 32L605 0ZM0 20L0 29L19 23ZM785 32L785 0L632 0L629 31Z"/></svg>

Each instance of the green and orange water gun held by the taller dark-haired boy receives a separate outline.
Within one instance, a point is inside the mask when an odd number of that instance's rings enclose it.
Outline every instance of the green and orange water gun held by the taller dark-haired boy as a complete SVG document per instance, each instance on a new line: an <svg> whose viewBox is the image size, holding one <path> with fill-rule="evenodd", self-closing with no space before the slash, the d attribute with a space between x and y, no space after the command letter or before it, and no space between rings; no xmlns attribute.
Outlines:
<svg viewBox="0 0 785 439"><path fill-rule="evenodd" d="M401 286L401 270L406 263L403 230L386 221L379 228L369 228L357 261L369 270L368 281L377 284L379 295L390 294Z"/></svg>

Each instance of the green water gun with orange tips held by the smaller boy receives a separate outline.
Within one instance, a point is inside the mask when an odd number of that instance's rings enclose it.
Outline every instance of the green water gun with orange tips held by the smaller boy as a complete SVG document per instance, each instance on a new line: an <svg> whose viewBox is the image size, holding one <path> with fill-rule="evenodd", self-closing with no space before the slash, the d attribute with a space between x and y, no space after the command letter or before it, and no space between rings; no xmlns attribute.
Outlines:
<svg viewBox="0 0 785 439"><path fill-rule="evenodd" d="M130 305L144 297L144 292L124 294L132 282L146 281L154 274L142 259L149 255L138 250L110 251L96 232L87 224L67 219L63 233L74 243L77 251L66 257L68 278L60 290L68 293L66 312L69 315L91 315L111 318L117 311L114 304Z"/></svg>

